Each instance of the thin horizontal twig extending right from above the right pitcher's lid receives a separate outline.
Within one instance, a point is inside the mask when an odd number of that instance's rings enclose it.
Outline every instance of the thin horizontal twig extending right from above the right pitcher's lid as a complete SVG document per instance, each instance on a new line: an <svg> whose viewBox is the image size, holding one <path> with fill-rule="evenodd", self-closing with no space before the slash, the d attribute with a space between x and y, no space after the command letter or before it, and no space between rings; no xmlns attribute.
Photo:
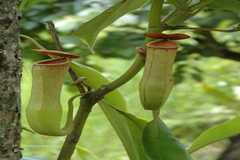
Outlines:
<svg viewBox="0 0 240 160"><path fill-rule="evenodd" d="M169 26L164 25L164 28L166 30L177 30L177 29L190 29L190 30L196 30L196 31L214 31L214 32L239 32L240 27L230 28L230 29L220 29L220 28L208 28L208 27L191 27L191 26Z"/></svg>

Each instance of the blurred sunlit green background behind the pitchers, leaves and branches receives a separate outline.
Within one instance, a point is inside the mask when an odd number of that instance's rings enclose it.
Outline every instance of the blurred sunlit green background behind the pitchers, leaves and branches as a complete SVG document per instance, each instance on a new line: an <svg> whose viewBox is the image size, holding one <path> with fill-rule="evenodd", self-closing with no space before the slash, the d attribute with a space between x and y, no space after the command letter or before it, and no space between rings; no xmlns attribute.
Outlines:
<svg viewBox="0 0 240 160"><path fill-rule="evenodd" d="M76 34L81 23L93 18L117 0L25 0L21 33L38 40L48 49L54 49L46 29L46 21L53 20L66 51L79 53L80 62L101 71L110 80L117 78L131 64L135 48L144 43L149 6L136 10L117 20L98 37L95 54L81 43ZM186 23L194 26L227 28L240 22L240 12L205 9ZM194 32L181 42L176 60L175 88L164 106L161 117L174 134L186 145L213 124L238 115L240 107L240 33ZM31 91L31 64L45 59L31 49L34 46L22 39L22 124L29 127L25 108ZM119 90L128 102L128 111L150 120L138 98L138 84L142 73ZM62 106L76 88L69 78L62 90ZM76 104L77 105L77 104ZM64 121L64 120L63 120ZM25 159L55 159L64 138L53 138L22 132ZM194 154L196 159L217 160L229 141L222 141ZM74 160L128 160L127 154L106 117L95 107L83 131L74 154Z"/></svg>

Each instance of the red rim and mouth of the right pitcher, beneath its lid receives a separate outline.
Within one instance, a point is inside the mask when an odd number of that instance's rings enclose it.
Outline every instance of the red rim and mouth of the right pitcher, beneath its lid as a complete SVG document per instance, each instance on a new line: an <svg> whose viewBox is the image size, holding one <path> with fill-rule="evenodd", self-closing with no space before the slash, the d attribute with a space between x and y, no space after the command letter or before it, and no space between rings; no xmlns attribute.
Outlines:
<svg viewBox="0 0 240 160"><path fill-rule="evenodd" d="M173 41L153 41L146 44L147 47L151 48L162 48L162 49L177 49L177 43Z"/></svg>

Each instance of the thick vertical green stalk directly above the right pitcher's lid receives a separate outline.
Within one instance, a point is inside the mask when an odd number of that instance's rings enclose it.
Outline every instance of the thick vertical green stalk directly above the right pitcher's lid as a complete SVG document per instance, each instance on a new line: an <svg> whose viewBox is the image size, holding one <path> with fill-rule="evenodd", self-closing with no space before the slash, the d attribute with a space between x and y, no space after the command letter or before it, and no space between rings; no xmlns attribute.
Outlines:
<svg viewBox="0 0 240 160"><path fill-rule="evenodd" d="M162 30L161 14L164 0L152 0L149 12L148 32L160 33Z"/></svg>

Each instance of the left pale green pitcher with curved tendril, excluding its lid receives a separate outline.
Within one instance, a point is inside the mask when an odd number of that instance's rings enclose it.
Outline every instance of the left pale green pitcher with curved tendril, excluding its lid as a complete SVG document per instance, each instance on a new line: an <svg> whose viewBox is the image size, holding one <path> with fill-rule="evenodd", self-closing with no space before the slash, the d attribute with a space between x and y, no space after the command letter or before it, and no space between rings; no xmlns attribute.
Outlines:
<svg viewBox="0 0 240 160"><path fill-rule="evenodd" d="M60 94L69 69L67 58L40 61L32 67L32 91L26 116L30 127L39 134L64 136L72 128L73 106L69 101L67 121L61 127L62 106Z"/></svg>

